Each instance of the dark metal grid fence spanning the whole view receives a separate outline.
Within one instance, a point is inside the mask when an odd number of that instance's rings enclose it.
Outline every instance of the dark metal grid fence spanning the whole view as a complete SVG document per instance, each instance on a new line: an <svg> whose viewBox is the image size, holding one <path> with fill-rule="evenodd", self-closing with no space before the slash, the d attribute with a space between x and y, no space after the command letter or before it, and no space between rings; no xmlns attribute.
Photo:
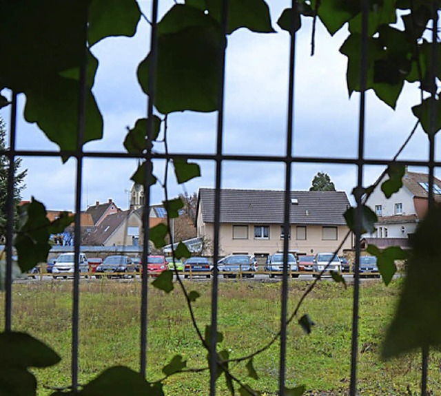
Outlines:
<svg viewBox="0 0 441 396"><path fill-rule="evenodd" d="M227 31L227 9L228 9L228 0L223 1L222 8L222 26L223 33ZM223 163L225 160L237 160L237 161L256 161L260 163L271 162L271 163L280 163L285 167L285 216L284 216L284 249L283 253L285 257L287 257L289 251L289 207L291 202L291 197L289 191L291 191L291 179L292 179L292 167L294 164L298 163L330 163L330 164L347 164L353 165L357 167L357 185L359 189L362 188L363 183L363 172L366 165L388 165L389 161L387 160L376 160L376 159L367 159L365 158L365 118L366 118L366 87L367 87L367 18L369 13L369 1L362 0L362 45L360 48L361 54L361 62L360 62L360 99L359 99L359 114L358 114L358 155L356 158L338 158L338 157L330 157L330 158L321 158L321 157L306 157L306 156L294 156L293 153L293 145L295 140L295 131L294 131L294 76L296 69L296 34L291 34L290 41L290 54L289 54L289 95L287 98L287 130L286 130L286 153L284 156L249 156L247 154L240 154L234 156L227 156L223 153L223 129L224 129L224 79L225 79L225 48L220 49L220 69L221 69L221 78L219 81L220 89L218 103L220 103L220 109L217 115L217 138L216 138L216 153L212 155L198 155L194 152L188 152L185 154L154 154L150 150L147 150L143 156L145 163L147 164L147 171L145 172L145 207L150 207L151 203L151 195L150 195L150 180L149 180L149 171L152 167L152 161L157 158L172 158L181 156L183 158L193 158L196 160L209 160L215 164L215 180L214 185L216 188L216 199L215 199L215 228L214 228L214 263L218 261L220 257L219 251L219 227L220 227L220 189L221 189L221 180L223 176ZM435 10L437 9L437 2L433 1ZM296 1L292 2L292 7L296 9ZM435 12L436 15L436 12ZM157 20L158 20L158 0L154 0L152 2L152 12L149 17L151 21L151 42L150 49L152 54L152 59L156 59L157 52ZM434 21L435 25L438 24L438 20ZM86 43L87 37L87 28L84 27L83 30L84 43ZM437 41L436 37L436 29L433 29L433 42ZM86 45L85 45L86 48ZM433 46L435 48L435 46ZM4 54L3 54L4 55ZM436 54L433 55L432 58L433 65L436 65ZM156 63L153 61L152 65ZM435 67L433 67L435 70ZM150 86L154 87L152 83L155 79L155 67L150 67L149 70L149 81ZM79 100L79 114L78 114L78 143L76 146L76 151L74 153L69 153L74 158L76 158L76 204L75 204L75 242L74 242L74 252L76 257L75 262L75 272L74 272L74 280L73 280L73 304L72 304L72 389L78 389L78 368L79 368L79 282L80 282L80 273L79 273L79 251L80 251L80 238L81 229L80 229L80 212L81 212L81 196L83 194L82 191L82 180L83 180L83 159L85 157L94 157L94 158L130 158L130 155L127 154L103 154L101 152L83 152L83 131L84 131L84 123L85 123L85 74L86 74L86 56L84 56L83 67L81 68L81 84L83 86L83 90L78 98ZM433 76L434 79L434 76ZM435 84L433 84L435 89ZM433 92L434 94L434 92ZM154 114L153 102L154 102L155 92L150 94L150 100L148 101L148 110L147 110L147 118L152 120L152 115ZM434 130L435 124L435 112L432 109L431 123L432 129ZM148 125L148 131L152 131L152 125ZM50 152L50 151L23 151L16 149L16 137L17 137L17 94L12 93L12 110L10 117L10 141L9 141L9 149L6 153L10 163L13 163L14 159L23 156L46 156L46 157L55 157L60 156L60 152ZM429 135L429 158L428 160L423 161L407 161L407 165L419 165L419 166L427 166L429 169L429 202L433 202L433 173L435 169L435 138L434 134ZM63 154L63 153L61 153ZM132 156L134 158L134 156ZM6 256L7 256L7 267L6 267L6 316L5 316L5 330L10 331L12 329L12 240L13 240L13 218L14 218L14 197L13 197L13 189L14 189L14 169L10 167L9 178L8 178L8 228L7 228L7 241L6 244ZM143 215L143 223L148 225L148 210L144 211ZM358 268L358 262L360 258L360 236L361 236L361 206L360 202L358 202L358 211L357 211L357 225L356 225L356 264L354 271L354 286L353 286L353 313L352 313L352 333L351 333L351 379L350 379L350 395L355 396L357 394L357 373L358 373L358 317L359 317L359 302L360 302L360 273ZM149 229L145 227L144 229L144 240L143 246L148 247L149 240ZM147 255L148 251L145 249L143 251L143 271L147 272L146 263L147 263ZM217 323L218 323L218 267L214 265L214 276L212 277L212 306L211 306L211 337L209 342L209 348L211 351L211 361L210 361L210 395L214 396L216 394L216 372L217 372L217 362L216 362L216 337L217 337ZM279 357L279 393L280 395L285 395L285 373L286 373L286 356L287 356L287 302L288 302L288 278L289 273L287 267L285 267L283 273L283 280L280 288L280 301L281 301L281 312L280 312L280 357ZM148 304L148 281L147 277L143 277L142 279L142 300L141 300L141 323L140 323L140 373L145 376L147 370L147 304ZM428 351L422 351L422 381L421 381L421 394L427 394L427 367L428 367Z"/></svg>

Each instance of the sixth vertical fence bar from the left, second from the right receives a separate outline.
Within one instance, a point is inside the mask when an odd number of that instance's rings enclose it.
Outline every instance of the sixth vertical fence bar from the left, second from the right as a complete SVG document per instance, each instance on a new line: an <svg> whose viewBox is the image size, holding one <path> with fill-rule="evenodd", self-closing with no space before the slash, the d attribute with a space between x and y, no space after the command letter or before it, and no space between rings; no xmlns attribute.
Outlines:
<svg viewBox="0 0 441 396"><path fill-rule="evenodd" d="M352 335L351 335L351 383L349 394L356 396L357 392L357 359L358 359L358 311L360 301L360 239L362 233L362 184L363 166L365 165L365 112L366 112L366 86L367 86L367 23L369 13L369 0L360 0L362 10L362 38L360 56L360 109L358 119L358 169L357 169L357 189L356 189L356 262L353 280L353 307L352 307Z"/></svg>

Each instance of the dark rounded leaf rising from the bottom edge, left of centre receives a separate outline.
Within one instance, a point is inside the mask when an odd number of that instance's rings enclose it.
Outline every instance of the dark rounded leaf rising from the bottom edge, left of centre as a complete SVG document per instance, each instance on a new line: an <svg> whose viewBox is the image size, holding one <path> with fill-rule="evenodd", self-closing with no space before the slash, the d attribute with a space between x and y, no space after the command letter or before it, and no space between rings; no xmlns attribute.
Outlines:
<svg viewBox="0 0 441 396"><path fill-rule="evenodd" d="M150 384L143 375L123 366L107 368L79 392L80 396L162 396L162 384Z"/></svg>

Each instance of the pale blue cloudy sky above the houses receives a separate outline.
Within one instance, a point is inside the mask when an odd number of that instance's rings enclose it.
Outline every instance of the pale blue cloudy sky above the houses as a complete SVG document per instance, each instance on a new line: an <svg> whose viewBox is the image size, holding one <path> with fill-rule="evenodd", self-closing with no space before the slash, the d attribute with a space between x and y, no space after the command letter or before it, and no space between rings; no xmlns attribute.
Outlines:
<svg viewBox="0 0 441 396"><path fill-rule="evenodd" d="M145 14L150 14L150 1L141 1ZM257 34L240 29L228 38L225 85L225 154L284 155L287 125L287 81L289 34L282 32L276 21L291 1L268 1L274 34ZM162 1L161 12L172 6ZM346 57L338 48L347 30L333 38L318 23L316 54L310 53L311 24L303 19L296 49L296 92L294 154L355 158L358 151L358 100L349 100L346 87ZM94 46L99 59L94 95L104 118L103 140L88 143L85 150L122 150L126 127L132 127L146 114L147 100L136 81L136 67L145 58L149 43L149 26L141 20L134 38L111 38ZM8 92L2 92L8 94ZM418 104L415 86L407 85L396 111L380 102L371 92L367 95L367 128L365 156L389 159L409 134L416 119L411 105ZM36 125L22 118L25 98L19 98L17 149L57 149ZM0 111L9 125L8 109ZM170 152L213 154L216 149L216 114L193 112L169 116ZM158 145L158 150L162 148ZM427 158L427 137L422 130L411 140L400 156L404 160ZM202 176L178 186L170 175L170 195L186 189L214 186L214 164L201 161ZM155 163L162 174L163 164ZM74 208L74 160L64 165L55 158L23 158L28 169L23 199L34 196L48 209ZM122 209L128 206L127 191L136 160L85 159L83 176L83 209L112 198ZM418 169L416 169L418 170ZM224 163L222 186L227 188L283 189L284 167L277 163ZM318 171L325 171L336 189L349 196L356 185L356 167L348 165L294 165L292 189L309 189ZM365 167L365 185L373 183L381 167ZM163 200L159 187L152 189L152 203Z"/></svg>

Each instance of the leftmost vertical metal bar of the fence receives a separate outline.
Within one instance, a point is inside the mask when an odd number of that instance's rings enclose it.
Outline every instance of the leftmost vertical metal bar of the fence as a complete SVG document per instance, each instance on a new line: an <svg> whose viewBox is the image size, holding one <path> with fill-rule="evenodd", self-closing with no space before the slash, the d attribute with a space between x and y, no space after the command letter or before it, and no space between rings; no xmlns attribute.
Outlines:
<svg viewBox="0 0 441 396"><path fill-rule="evenodd" d="M5 279L5 331L12 329L12 243L14 238L14 160L17 135L17 94L12 92L10 136L8 154L8 197L6 200L6 279Z"/></svg>

